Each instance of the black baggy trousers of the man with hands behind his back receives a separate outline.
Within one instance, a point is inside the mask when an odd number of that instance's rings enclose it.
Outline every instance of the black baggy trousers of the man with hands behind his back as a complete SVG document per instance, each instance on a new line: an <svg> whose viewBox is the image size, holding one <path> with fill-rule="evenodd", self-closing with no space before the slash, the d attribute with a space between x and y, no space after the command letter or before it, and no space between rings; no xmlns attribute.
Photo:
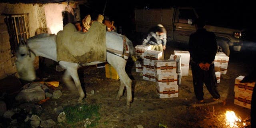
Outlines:
<svg viewBox="0 0 256 128"><path fill-rule="evenodd" d="M214 64L211 64L208 71L202 70L198 64L191 63L194 92L196 99L204 100L203 86L206 85L207 90L213 98L220 98L217 90L217 79L214 71Z"/></svg>

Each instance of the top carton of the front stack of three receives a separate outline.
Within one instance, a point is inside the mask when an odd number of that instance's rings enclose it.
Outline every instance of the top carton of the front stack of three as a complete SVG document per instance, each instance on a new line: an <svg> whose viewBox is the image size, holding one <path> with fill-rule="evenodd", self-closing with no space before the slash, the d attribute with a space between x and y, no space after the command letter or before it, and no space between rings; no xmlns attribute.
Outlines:
<svg viewBox="0 0 256 128"><path fill-rule="evenodd" d="M176 61L174 60L156 60L154 68L156 74L172 74L176 73Z"/></svg>

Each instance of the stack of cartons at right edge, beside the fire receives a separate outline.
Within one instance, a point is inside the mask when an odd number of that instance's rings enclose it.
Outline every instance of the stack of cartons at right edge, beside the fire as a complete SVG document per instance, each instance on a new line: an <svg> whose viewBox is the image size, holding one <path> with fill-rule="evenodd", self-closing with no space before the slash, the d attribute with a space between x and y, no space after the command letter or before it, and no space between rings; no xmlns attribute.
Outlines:
<svg viewBox="0 0 256 128"><path fill-rule="evenodd" d="M253 91L255 82L240 83L240 81L243 80L243 78L244 76L238 76L235 80L234 104L250 109L251 101L252 101L252 91Z"/></svg>

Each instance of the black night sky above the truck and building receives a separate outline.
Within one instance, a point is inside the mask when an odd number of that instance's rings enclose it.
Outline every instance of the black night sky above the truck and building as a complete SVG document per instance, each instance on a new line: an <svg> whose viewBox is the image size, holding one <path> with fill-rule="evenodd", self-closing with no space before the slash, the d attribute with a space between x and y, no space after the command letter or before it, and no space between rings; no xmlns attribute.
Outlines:
<svg viewBox="0 0 256 128"><path fill-rule="evenodd" d="M88 0L88 2L87 6L94 13L102 14L106 0ZM114 20L116 25L122 26L125 30L130 28L134 8L147 5L152 8L194 7L199 16L204 16L209 24L230 26L240 30L256 28L254 25L256 5L252 0L107 0L104 16L109 16L110 20Z"/></svg>

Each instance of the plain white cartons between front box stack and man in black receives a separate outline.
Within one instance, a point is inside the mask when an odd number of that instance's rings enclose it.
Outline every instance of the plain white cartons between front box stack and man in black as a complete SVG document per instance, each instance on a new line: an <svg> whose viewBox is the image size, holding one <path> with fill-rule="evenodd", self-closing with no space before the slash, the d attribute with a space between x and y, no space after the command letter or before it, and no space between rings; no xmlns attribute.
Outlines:
<svg viewBox="0 0 256 128"><path fill-rule="evenodd" d="M180 55L181 60L181 73L182 76L188 76L188 70L189 70L189 61L190 61L190 54L188 51L176 51L174 50L174 55Z"/></svg>

